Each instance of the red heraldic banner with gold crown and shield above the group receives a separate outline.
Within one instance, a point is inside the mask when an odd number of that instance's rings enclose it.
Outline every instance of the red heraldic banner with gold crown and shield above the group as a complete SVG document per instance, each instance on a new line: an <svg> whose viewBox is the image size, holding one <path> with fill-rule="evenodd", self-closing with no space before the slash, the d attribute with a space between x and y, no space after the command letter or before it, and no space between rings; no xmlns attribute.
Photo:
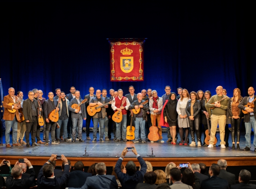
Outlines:
<svg viewBox="0 0 256 189"><path fill-rule="evenodd" d="M144 80L144 42L109 41L110 81Z"/></svg>

